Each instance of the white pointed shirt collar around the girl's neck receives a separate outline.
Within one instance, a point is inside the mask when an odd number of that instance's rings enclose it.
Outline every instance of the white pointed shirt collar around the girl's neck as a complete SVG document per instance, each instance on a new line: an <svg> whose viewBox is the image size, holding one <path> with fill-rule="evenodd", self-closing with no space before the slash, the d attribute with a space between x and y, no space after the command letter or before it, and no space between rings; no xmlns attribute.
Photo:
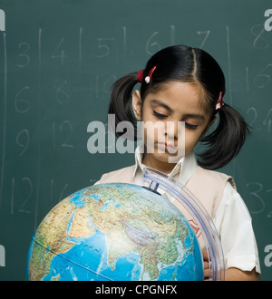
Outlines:
<svg viewBox="0 0 272 299"><path fill-rule="evenodd" d="M135 150L135 168L133 171L133 178L135 178L136 173L140 172L141 175L144 171L144 164L142 164L142 153L143 153L144 146L141 144ZM179 162L176 164L174 169L170 172L170 178L179 179L182 185L185 185L191 175L194 173L195 169L197 168L198 164L196 161L195 153L193 150L186 156L182 157Z"/></svg>

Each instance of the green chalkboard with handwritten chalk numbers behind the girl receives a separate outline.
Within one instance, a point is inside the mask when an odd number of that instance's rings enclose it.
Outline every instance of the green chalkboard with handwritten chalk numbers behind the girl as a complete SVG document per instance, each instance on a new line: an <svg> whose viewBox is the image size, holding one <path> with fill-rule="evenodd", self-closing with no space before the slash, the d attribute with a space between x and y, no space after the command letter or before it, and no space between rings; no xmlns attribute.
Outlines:
<svg viewBox="0 0 272 299"><path fill-rule="evenodd" d="M225 101L251 126L221 170L253 219L261 279L272 279L269 8L271 0L0 2L0 280L24 280L34 230L59 200L133 163L133 154L91 154L88 124L106 123L112 82L179 43L217 59Z"/></svg>

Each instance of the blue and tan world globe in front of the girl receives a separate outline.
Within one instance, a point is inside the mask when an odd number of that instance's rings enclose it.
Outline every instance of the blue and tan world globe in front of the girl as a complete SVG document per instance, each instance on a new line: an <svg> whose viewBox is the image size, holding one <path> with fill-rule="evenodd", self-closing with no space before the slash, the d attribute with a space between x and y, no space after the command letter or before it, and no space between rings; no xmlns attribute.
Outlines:
<svg viewBox="0 0 272 299"><path fill-rule="evenodd" d="M170 201L110 183L63 199L34 233L27 280L203 280L197 236Z"/></svg>

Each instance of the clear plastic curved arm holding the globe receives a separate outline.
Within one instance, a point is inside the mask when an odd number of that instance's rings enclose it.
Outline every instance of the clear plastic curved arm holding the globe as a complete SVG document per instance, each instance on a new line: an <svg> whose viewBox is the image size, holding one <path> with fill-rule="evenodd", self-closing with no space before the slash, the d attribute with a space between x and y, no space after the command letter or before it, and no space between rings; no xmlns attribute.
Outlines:
<svg viewBox="0 0 272 299"><path fill-rule="evenodd" d="M189 212L193 221L198 225L204 239L209 256L209 280L224 280L225 265L219 234L205 207L180 182L159 170L145 167L144 180L149 184L148 189L160 194L158 189L161 188L170 195L170 201L173 204L176 201Z"/></svg>

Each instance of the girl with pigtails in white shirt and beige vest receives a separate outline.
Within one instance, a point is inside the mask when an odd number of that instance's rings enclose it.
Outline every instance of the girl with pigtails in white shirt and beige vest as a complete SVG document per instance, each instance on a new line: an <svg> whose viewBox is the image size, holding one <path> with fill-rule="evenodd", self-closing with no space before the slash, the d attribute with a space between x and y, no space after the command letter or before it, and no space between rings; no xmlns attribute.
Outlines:
<svg viewBox="0 0 272 299"><path fill-rule="evenodd" d="M137 82L141 90L132 93ZM248 133L238 111L222 101L224 94L224 74L205 51L177 45L155 53L143 71L132 72L113 84L109 113L115 114L116 126L131 121L134 136L136 121L160 121L165 126L171 122L173 130L151 134L145 128L144 147L136 149L135 165L104 174L98 183L143 185L144 165L169 174L189 188L213 218L224 252L225 279L257 280L260 268L248 209L233 179L214 171L238 154ZM218 115L216 130L205 136ZM173 149L180 147L180 121L185 123L185 155L173 162L170 158L177 157ZM209 147L197 163L193 149L199 141ZM208 259L205 254L203 258L207 278Z"/></svg>

